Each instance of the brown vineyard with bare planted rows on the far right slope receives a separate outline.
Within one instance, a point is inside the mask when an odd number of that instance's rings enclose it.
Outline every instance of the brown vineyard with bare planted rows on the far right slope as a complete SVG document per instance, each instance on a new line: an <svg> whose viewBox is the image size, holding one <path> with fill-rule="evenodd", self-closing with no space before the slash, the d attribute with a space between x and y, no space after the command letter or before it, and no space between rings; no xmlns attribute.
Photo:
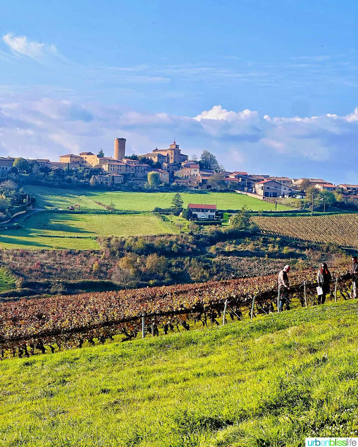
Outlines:
<svg viewBox="0 0 358 447"><path fill-rule="evenodd" d="M267 233L313 242L333 242L345 247L358 247L358 214L307 217L254 216L252 220Z"/></svg>

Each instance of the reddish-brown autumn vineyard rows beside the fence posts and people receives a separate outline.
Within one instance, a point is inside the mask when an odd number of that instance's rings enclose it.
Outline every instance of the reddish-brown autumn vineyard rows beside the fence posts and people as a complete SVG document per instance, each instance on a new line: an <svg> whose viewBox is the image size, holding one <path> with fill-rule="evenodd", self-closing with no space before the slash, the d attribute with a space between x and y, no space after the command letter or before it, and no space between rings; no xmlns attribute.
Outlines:
<svg viewBox="0 0 358 447"><path fill-rule="evenodd" d="M331 270L339 278L341 295L349 285L346 267ZM290 274L292 291L301 303L303 282L307 291L315 287L315 270ZM94 344L123 334L131 340L145 328L154 335L170 330L188 330L189 321L218 325L223 303L228 299L228 317L241 318L256 296L256 313L273 310L277 297L277 275L229 281L179 284L174 286L21 299L0 303L1 357L29 356ZM346 295L347 296L347 295ZM246 310L245 310L246 309Z"/></svg>

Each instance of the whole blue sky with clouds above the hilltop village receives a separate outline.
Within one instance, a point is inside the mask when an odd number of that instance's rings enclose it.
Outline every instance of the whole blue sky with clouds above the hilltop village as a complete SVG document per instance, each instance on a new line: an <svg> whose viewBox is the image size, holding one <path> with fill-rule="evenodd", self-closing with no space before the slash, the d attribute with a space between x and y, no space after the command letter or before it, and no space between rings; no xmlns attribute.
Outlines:
<svg viewBox="0 0 358 447"><path fill-rule="evenodd" d="M2 2L0 155L175 136L226 169L358 183L357 16L354 1Z"/></svg>

